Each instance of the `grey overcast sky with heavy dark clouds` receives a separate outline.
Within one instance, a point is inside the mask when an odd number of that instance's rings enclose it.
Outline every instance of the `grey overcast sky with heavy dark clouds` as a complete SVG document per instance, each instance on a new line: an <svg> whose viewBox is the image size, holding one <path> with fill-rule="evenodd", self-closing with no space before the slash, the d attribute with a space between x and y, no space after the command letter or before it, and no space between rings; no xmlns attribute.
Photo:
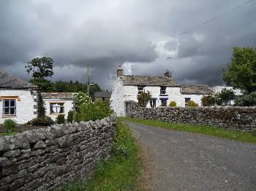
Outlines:
<svg viewBox="0 0 256 191"><path fill-rule="evenodd" d="M103 89L118 65L219 84L236 46L256 47L256 0L0 0L0 67L26 80L26 63L49 56L54 80L86 82L89 64Z"/></svg>

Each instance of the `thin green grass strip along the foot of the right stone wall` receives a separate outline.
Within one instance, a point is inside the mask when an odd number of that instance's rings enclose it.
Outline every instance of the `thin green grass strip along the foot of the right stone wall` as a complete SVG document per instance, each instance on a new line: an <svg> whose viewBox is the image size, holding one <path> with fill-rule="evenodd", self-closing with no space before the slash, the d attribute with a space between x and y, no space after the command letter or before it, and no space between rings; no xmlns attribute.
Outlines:
<svg viewBox="0 0 256 191"><path fill-rule="evenodd" d="M256 136L252 133L240 132L238 130L228 130L214 126L191 125L186 123L170 123L159 120L143 120L131 117L120 117L121 120L128 120L131 122L138 122L144 125L155 126L170 130L188 131L192 133L205 134L209 136L219 136L226 139L233 139L246 143L256 143Z"/></svg>

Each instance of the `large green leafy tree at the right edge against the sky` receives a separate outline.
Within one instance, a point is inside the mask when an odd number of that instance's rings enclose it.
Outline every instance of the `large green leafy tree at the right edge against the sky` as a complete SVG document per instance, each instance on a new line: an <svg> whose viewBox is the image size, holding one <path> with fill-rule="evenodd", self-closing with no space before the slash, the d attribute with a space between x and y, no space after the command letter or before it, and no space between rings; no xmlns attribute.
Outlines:
<svg viewBox="0 0 256 191"><path fill-rule="evenodd" d="M227 71L223 69L223 79L244 93L256 91L256 49L234 47L231 63Z"/></svg>

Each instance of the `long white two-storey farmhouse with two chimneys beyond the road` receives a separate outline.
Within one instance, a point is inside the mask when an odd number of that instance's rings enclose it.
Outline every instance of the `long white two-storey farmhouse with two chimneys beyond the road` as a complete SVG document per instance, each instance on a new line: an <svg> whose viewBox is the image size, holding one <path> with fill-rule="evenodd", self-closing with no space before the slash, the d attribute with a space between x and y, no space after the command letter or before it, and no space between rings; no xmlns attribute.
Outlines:
<svg viewBox="0 0 256 191"><path fill-rule="evenodd" d="M170 76L169 71L162 77L124 75L123 69L118 66L110 106L118 116L125 116L127 108L125 101L138 101L138 94L144 91L151 93L151 102L148 103L148 107L168 106L170 101L175 101L177 106L187 106L189 101L195 101L198 106L201 106L203 95L211 95L223 88L225 87L179 85Z"/></svg>

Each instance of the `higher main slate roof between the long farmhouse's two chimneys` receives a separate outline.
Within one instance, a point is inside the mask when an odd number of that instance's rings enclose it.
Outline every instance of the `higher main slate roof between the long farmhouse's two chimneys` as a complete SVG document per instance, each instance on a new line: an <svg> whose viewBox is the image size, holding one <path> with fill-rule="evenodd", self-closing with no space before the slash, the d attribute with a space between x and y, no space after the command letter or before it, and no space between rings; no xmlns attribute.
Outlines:
<svg viewBox="0 0 256 191"><path fill-rule="evenodd" d="M148 85L148 86L167 86L167 87L180 87L170 77L146 77L146 76L131 76L124 75L120 79L124 85Z"/></svg>

